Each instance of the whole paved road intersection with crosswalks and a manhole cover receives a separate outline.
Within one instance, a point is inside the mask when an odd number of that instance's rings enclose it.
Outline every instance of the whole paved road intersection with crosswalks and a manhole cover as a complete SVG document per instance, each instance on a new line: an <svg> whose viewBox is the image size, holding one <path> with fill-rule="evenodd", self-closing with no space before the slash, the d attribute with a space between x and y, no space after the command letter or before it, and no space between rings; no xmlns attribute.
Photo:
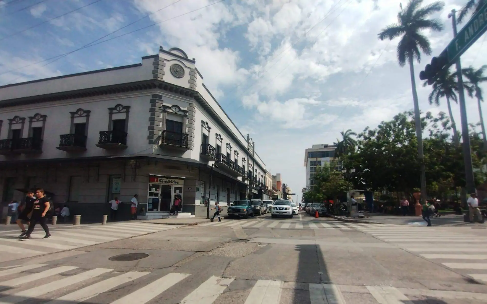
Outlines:
<svg viewBox="0 0 487 304"><path fill-rule="evenodd" d="M0 304L487 303L487 239L475 227L262 215L52 234L0 231Z"/></svg>

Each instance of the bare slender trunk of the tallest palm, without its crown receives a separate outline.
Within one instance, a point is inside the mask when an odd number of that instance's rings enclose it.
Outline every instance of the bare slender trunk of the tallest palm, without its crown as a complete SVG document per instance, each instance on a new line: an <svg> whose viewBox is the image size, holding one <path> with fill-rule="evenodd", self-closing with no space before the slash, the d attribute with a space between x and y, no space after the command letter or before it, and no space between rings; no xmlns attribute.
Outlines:
<svg viewBox="0 0 487 304"><path fill-rule="evenodd" d="M418 93L416 92L416 81L414 80L414 66L412 54L409 55L409 72L411 74L412 101L414 103L414 125L416 127L416 137L418 139L418 160L421 167L421 204L426 199L426 168L423 153L423 130L421 128L421 114L419 113Z"/></svg>

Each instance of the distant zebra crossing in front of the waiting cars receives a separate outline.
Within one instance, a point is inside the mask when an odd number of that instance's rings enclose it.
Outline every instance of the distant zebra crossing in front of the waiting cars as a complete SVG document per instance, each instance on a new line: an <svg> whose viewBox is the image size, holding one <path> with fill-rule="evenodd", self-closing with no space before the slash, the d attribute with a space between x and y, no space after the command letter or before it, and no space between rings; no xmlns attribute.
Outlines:
<svg viewBox="0 0 487 304"><path fill-rule="evenodd" d="M345 223L335 221L321 222L290 222L277 220L224 220L221 222L208 222L198 226L204 227L233 227L240 226L243 228L275 228L275 229L341 229L352 230L361 227L397 227L393 224L369 224L369 223Z"/></svg>

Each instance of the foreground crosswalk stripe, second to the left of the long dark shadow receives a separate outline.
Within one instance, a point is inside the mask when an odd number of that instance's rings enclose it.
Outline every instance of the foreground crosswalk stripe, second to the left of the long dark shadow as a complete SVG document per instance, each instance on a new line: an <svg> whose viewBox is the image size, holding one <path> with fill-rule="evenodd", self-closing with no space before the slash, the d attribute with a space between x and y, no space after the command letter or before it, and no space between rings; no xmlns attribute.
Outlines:
<svg viewBox="0 0 487 304"><path fill-rule="evenodd" d="M233 278L212 276L188 294L181 304L212 304L233 280Z"/></svg>

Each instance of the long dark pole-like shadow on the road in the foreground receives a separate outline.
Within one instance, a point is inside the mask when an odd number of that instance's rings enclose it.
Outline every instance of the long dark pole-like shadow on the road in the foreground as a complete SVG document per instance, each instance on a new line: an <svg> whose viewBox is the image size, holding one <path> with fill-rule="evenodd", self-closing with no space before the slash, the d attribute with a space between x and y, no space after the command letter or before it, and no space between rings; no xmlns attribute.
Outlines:
<svg viewBox="0 0 487 304"><path fill-rule="evenodd" d="M334 289L325 288L325 286L330 286L328 284L331 284L331 279L319 246L297 245L296 250L299 251L296 281L299 283L308 283L310 288L309 296L322 299L322 302L318 303L340 303L333 302L332 298L337 297ZM292 303L302 303L302 301L302 294L293 294ZM311 303L313 303L313 301L311 301Z"/></svg>

